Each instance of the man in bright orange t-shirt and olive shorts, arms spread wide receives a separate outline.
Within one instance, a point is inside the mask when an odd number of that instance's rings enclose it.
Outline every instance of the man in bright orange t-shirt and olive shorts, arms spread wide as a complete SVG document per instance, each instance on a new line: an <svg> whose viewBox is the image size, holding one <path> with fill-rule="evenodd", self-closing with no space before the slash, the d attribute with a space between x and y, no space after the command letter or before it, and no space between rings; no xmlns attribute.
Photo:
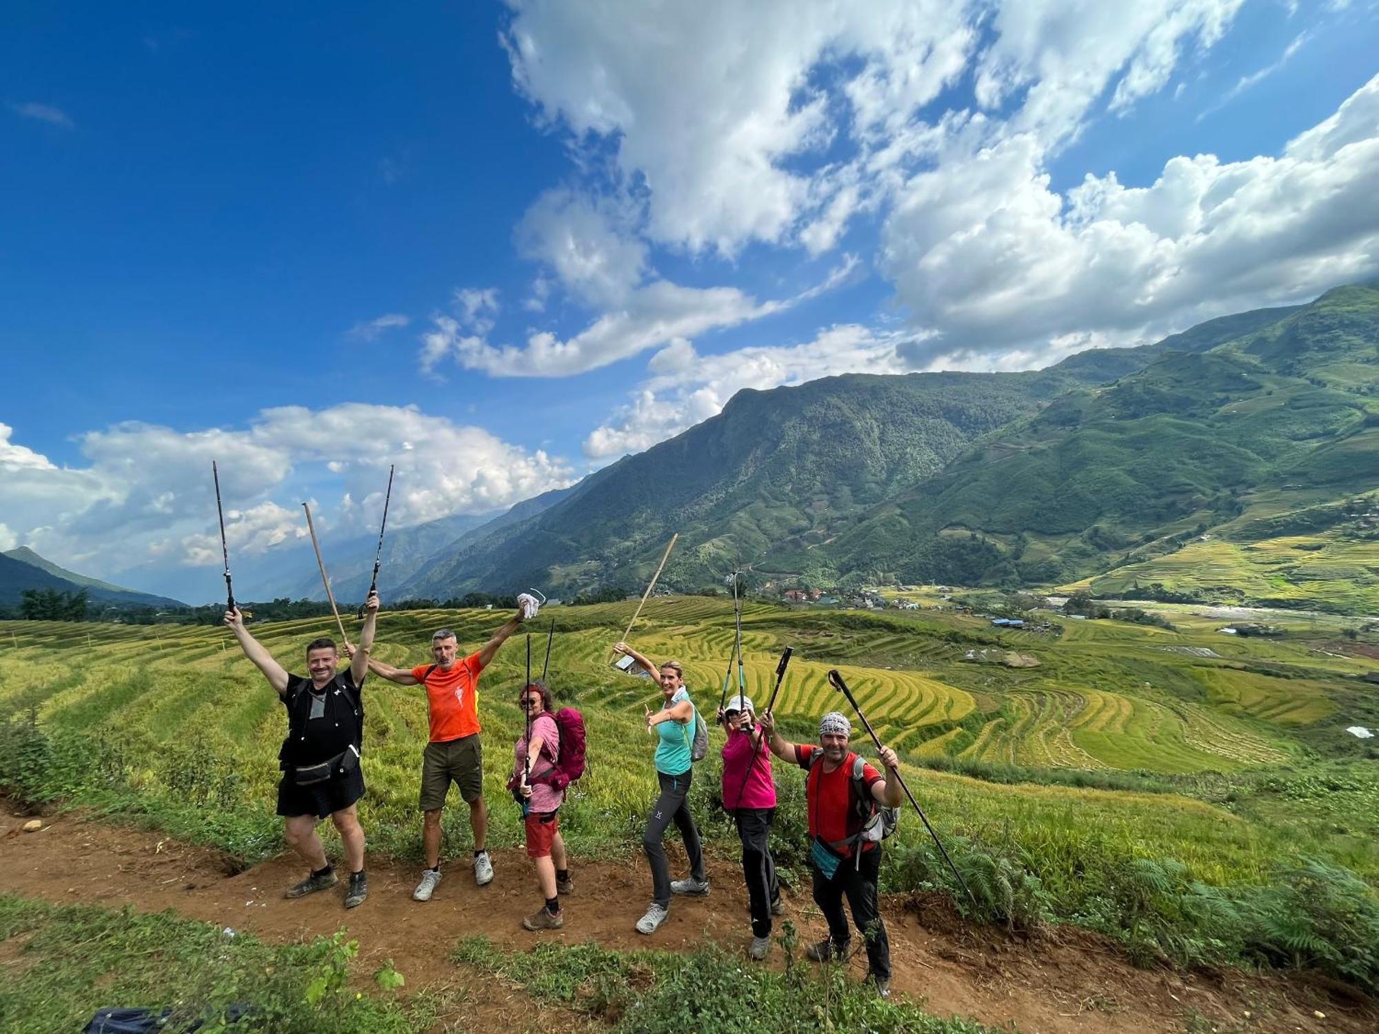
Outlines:
<svg viewBox="0 0 1379 1034"><path fill-rule="evenodd" d="M531 605L535 607L535 602ZM517 631L527 614L525 607L519 607L484 648L467 658L458 656L459 642L450 629L432 636L433 665L390 667L370 658L370 670L390 682L426 687L430 742L422 754L419 801L426 869L412 892L418 902L429 902L440 882L440 816L451 782L459 784L459 795L469 805L469 827L474 833L474 882L483 886L494 878L494 863L484 848L488 807L484 802L484 751L479 738L479 673L488 667L498 648Z"/></svg>

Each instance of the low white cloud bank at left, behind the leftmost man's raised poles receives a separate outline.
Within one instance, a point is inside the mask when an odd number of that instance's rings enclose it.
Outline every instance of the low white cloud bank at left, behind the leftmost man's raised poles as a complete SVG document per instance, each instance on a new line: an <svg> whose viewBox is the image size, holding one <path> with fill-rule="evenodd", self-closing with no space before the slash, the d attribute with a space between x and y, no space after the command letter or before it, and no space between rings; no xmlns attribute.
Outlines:
<svg viewBox="0 0 1379 1034"><path fill-rule="evenodd" d="M137 557L219 562L212 459L226 538L245 554L299 540L299 502L316 494L325 496L312 507L319 529L376 528L389 463L397 466L389 513L396 527L485 513L574 480L570 465L545 451L415 407L281 407L259 412L245 430L121 423L81 436L80 467L58 466L8 437L0 425L7 534L98 575Z"/></svg>

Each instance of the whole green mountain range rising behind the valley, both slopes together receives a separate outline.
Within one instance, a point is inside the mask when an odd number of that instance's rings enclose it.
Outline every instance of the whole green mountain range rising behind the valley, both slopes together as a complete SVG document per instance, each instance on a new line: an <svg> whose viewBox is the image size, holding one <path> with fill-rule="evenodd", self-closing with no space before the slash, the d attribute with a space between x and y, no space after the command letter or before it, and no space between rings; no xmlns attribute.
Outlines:
<svg viewBox="0 0 1379 1034"><path fill-rule="evenodd" d="M1260 518L1278 524L1379 488L1376 342L1371 283L1043 371L743 390L717 416L539 511L514 507L467 531L397 591L632 591L672 532L680 543L662 580L687 590L717 585L739 560L821 585L1049 586L1110 578L1191 539L1248 549ZM1303 561L1296 571L1273 572L1277 591L1252 597L1306 602L1294 589L1328 580L1303 568L1332 545L1343 546L1351 583L1375 583L1379 556L1351 524L1354 513L1338 516L1335 542L1310 543L1310 556L1292 558ZM1289 571L1298 578L1284 585ZM1142 574L1120 587L1162 589L1153 569ZM1219 587L1238 598L1229 572ZM1379 600L1379 586L1361 596Z"/></svg>

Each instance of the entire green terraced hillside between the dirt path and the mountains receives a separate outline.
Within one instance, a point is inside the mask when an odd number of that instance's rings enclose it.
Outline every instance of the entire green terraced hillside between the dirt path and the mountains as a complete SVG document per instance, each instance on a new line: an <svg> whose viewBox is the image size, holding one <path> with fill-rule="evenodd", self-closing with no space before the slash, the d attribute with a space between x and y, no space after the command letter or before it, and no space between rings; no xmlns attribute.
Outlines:
<svg viewBox="0 0 1379 1034"><path fill-rule="evenodd" d="M583 709L590 735L589 775L563 811L579 855L634 859L655 795L641 706L658 693L608 666L630 608L553 611L553 682L563 700ZM494 615L385 615L378 656L415 660L440 623L477 645ZM881 736L900 749L912 787L978 885L979 902L964 906L978 917L1085 922L1139 950L1172 954L1183 937L1207 936L1197 920L1171 918L1186 907L1175 895L1201 886L1240 900L1281 893L1280 866L1300 844L1328 866L1379 880L1373 747L1340 732L1357 721L1379 725L1379 706L1358 678L1372 662L1324 648L1339 625L1288 627L1277 640L1234 640L1190 616L1176 633L1120 622L1056 625L1062 634L997 634L956 614L752 604L749 691L764 702L778 651L794 645L776 710L787 735L808 739L818 714L840 703L823 682L830 666L840 667ZM634 638L654 655L681 658L695 699L712 714L731 626L723 601L663 598L648 604ZM320 620L255 629L290 666L323 630ZM4 631L0 714L11 721L0 725L0 784L30 798L138 813L245 858L277 849L281 707L228 633L22 622ZM534 645L539 656L543 647ZM974 663L965 659L971 651L1019 651L1038 666ZM480 688L498 845L520 837L503 782L521 721L512 696L523 656L520 640L509 644ZM376 680L365 700L370 790L361 818L374 849L415 858L425 704L414 689ZM717 809L714 768L713 760L701 767L692 804L713 849L731 856L735 837ZM778 856L797 880L803 787L783 765L776 782ZM456 809L447 813L447 835L448 851L463 852L467 833ZM957 891L910 819L888 858L892 891ZM1140 863L1169 873L1146 891L1156 910L1167 910L1153 922L1127 911L1132 899L1123 881Z"/></svg>

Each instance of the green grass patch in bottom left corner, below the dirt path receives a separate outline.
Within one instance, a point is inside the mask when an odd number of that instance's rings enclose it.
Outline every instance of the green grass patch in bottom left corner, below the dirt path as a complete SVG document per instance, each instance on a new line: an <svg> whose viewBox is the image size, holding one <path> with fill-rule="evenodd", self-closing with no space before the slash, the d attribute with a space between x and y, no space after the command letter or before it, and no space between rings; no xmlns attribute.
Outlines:
<svg viewBox="0 0 1379 1034"><path fill-rule="evenodd" d="M436 1022L436 994L356 990L368 975L353 972L354 950L339 935L270 946L172 913L0 895L0 1030L69 1034L114 1004L174 1009L168 1031L197 1020L223 1030L236 1004L254 1011L255 1028L281 1034L408 1034Z"/></svg>

